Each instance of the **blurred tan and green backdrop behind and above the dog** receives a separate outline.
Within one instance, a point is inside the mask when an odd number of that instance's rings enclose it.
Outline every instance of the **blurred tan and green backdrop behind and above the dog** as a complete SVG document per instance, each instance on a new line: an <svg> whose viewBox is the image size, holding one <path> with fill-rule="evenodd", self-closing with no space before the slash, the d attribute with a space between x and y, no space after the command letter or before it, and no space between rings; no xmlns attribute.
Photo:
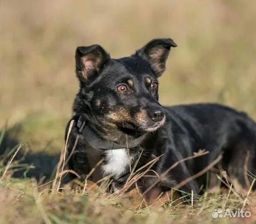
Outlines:
<svg viewBox="0 0 256 224"><path fill-rule="evenodd" d="M0 1L0 129L5 146L55 155L78 90L77 46L113 58L171 37L160 102L220 102L256 119L255 1ZM35 159L33 159L35 161Z"/></svg>

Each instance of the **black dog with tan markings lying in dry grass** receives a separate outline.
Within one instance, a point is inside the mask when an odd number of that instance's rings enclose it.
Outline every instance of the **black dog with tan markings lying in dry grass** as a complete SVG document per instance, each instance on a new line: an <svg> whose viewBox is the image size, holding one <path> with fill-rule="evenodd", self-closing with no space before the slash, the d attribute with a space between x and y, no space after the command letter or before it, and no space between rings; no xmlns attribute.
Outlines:
<svg viewBox="0 0 256 224"><path fill-rule="evenodd" d="M80 90L68 139L69 169L86 176L96 167L90 179L97 182L111 175L112 189L117 190L135 163L138 169L158 158L138 180L147 197L182 181L181 190L197 194L206 186L207 169L191 177L222 155L215 167L226 170L241 187L251 183L245 174L246 168L256 174L256 123L251 118L218 104L159 104L157 78L176 46L171 39L154 39L132 56L119 59L110 58L99 45L77 48ZM183 161L199 149L209 153Z"/></svg>

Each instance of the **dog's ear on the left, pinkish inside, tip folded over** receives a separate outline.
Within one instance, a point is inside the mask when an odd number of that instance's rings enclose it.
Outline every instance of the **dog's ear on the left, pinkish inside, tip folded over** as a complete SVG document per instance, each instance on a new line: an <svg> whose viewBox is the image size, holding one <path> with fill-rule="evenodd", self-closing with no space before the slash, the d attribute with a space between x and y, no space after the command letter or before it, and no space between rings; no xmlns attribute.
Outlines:
<svg viewBox="0 0 256 224"><path fill-rule="evenodd" d="M79 46L75 54L76 74L80 81L88 83L109 61L109 54L99 45Z"/></svg>

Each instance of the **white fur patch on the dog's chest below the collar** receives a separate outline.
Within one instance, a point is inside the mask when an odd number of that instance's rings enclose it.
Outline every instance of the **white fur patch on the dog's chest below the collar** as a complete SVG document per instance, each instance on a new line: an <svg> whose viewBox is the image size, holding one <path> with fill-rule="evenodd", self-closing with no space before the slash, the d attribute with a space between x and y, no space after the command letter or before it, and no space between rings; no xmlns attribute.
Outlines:
<svg viewBox="0 0 256 224"><path fill-rule="evenodd" d="M130 160L127 149L107 150L105 160L106 164L102 166L105 175L119 176L129 168Z"/></svg>

